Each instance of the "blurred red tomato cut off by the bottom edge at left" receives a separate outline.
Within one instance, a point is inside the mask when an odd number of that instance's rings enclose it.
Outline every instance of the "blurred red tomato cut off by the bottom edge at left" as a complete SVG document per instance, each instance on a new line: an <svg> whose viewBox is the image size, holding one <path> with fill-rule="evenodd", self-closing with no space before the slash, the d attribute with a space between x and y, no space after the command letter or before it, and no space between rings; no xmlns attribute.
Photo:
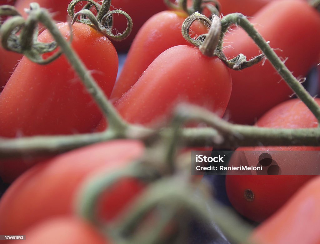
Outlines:
<svg viewBox="0 0 320 244"><path fill-rule="evenodd" d="M18 235L18 234L17 234ZM20 234L19 234L20 235ZM106 237L84 220L76 217L56 217L32 226L23 232L25 244L110 244ZM21 240L10 242L21 244Z"/></svg>

